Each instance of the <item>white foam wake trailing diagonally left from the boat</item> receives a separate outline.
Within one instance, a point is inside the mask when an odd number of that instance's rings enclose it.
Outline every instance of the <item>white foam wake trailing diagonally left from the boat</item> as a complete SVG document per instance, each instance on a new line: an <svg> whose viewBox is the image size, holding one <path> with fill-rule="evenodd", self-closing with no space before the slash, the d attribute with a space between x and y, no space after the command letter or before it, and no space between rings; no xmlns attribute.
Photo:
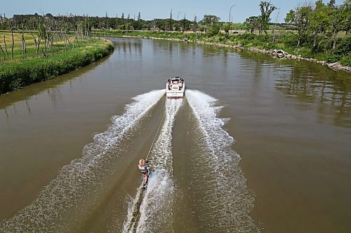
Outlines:
<svg viewBox="0 0 351 233"><path fill-rule="evenodd" d="M81 158L62 167L32 204L0 223L0 230L11 233L67 231L64 224L59 225L65 223L67 209L79 206L84 197L95 195L104 167L119 156L120 142L163 95L164 90L154 90L134 97L123 115L112 117L112 125L105 132L96 134L93 143L84 146Z"/></svg>

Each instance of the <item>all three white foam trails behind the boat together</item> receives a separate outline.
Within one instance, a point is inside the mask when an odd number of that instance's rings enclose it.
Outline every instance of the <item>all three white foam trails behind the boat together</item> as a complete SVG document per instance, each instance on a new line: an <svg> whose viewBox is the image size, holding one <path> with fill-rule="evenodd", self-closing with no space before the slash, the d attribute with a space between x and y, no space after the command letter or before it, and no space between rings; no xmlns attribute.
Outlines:
<svg viewBox="0 0 351 233"><path fill-rule="evenodd" d="M138 133L135 126L164 95L164 90L152 91L134 98L123 115L114 116L106 132L97 134L94 142L84 147L83 155L62 167L58 176L39 194L39 197L16 216L4 220L4 232L67 232L79 229L84 213L94 208L86 202L99 195L100 179L106 176L111 161L118 157L121 142ZM202 169L194 179L201 185L197 202L202 230L207 232L259 232L249 217L253 195L246 188L246 178L240 167L240 157L231 149L234 139L222 129L227 119L217 118L221 107L216 99L196 90L187 90L187 101L197 121L197 136L201 152L196 155ZM176 114L183 99L166 99L164 122L154 143L150 160L154 172L147 190L141 186L131 199L123 232L173 232L172 131ZM136 127L138 128L138 127ZM69 219L73 218L73 219ZM69 224L72 222L72 225ZM78 225L78 226L76 226ZM71 227L71 228L69 228ZM72 229L73 228L73 229Z"/></svg>

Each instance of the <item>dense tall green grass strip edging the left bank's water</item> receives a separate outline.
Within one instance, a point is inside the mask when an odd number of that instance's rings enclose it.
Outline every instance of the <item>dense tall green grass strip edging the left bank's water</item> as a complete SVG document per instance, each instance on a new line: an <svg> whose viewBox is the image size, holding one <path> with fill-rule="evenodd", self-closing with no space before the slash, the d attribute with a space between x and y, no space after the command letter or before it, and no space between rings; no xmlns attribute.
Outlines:
<svg viewBox="0 0 351 233"><path fill-rule="evenodd" d="M0 94L60 76L110 55L110 41L92 39L85 45L62 50L48 57L27 57L0 66Z"/></svg>

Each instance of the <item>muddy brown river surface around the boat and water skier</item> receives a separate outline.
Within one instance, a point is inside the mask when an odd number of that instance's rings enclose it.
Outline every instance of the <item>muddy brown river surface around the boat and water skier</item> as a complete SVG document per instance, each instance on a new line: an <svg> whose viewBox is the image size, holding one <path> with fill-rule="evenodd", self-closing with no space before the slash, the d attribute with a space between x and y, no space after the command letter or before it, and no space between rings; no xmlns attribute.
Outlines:
<svg viewBox="0 0 351 233"><path fill-rule="evenodd" d="M101 62L0 97L0 231L351 231L350 74L113 42ZM185 99L164 97L169 76Z"/></svg>

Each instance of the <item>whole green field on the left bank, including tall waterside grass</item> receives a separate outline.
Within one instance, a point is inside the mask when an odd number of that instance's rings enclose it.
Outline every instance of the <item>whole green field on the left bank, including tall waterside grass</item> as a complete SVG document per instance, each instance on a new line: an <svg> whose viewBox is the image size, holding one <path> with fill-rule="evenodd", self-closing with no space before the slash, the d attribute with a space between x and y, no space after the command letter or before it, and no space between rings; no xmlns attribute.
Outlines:
<svg viewBox="0 0 351 233"><path fill-rule="evenodd" d="M11 59L11 32L0 31L0 94L18 90L32 83L54 78L109 55L114 47L110 41L98 38L55 40L38 53L32 36L25 33L26 52L22 52L22 34L14 35L13 59ZM4 41L5 36L5 41ZM6 43L6 46L5 46ZM7 52L6 52L7 47ZM1 50L1 49L0 49Z"/></svg>

